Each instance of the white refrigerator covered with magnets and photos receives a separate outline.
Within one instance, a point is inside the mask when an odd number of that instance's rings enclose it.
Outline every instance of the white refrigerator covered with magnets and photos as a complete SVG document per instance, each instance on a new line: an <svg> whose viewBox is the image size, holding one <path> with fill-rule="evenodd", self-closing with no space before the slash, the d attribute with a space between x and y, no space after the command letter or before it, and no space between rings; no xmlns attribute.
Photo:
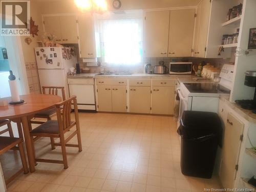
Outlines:
<svg viewBox="0 0 256 192"><path fill-rule="evenodd" d="M65 87L66 97L69 97L67 75L77 63L74 48L36 47L35 57L40 87ZM61 96L61 92L58 94Z"/></svg>

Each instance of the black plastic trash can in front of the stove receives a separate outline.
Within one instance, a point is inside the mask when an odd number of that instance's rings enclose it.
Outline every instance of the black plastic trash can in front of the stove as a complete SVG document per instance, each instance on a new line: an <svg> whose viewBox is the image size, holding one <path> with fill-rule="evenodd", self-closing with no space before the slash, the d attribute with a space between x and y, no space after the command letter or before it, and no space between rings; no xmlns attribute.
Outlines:
<svg viewBox="0 0 256 192"><path fill-rule="evenodd" d="M178 129L181 136L181 172L186 176L211 178L222 126L216 113L184 111Z"/></svg>

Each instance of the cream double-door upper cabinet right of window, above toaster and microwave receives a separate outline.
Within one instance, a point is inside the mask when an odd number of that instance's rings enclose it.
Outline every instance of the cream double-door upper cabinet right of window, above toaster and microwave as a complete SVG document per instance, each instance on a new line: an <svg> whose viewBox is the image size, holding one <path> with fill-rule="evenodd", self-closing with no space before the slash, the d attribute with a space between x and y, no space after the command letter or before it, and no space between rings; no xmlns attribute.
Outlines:
<svg viewBox="0 0 256 192"><path fill-rule="evenodd" d="M145 12L145 57L191 56L195 9Z"/></svg>

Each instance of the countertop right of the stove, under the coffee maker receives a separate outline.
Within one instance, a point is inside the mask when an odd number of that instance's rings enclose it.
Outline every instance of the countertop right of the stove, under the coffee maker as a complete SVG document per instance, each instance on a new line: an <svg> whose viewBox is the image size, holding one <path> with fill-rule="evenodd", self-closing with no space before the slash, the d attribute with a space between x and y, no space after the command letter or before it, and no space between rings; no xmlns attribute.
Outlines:
<svg viewBox="0 0 256 192"><path fill-rule="evenodd" d="M252 113L251 110L245 110L241 108L237 103L233 103L229 101L229 97L221 96L220 99L227 104L231 109L236 111L241 117L246 119L247 121L256 124L256 114Z"/></svg>

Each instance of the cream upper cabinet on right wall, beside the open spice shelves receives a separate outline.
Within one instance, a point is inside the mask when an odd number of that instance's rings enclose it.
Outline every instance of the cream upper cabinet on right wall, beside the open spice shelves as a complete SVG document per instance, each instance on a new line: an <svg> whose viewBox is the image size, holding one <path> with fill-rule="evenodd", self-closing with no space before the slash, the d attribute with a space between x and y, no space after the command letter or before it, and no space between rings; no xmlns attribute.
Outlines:
<svg viewBox="0 0 256 192"><path fill-rule="evenodd" d="M222 35L230 34L230 28L223 27L227 10L230 8L228 1L202 0L197 6L196 27L193 43L193 57L202 58L229 58L231 48L219 53Z"/></svg>

